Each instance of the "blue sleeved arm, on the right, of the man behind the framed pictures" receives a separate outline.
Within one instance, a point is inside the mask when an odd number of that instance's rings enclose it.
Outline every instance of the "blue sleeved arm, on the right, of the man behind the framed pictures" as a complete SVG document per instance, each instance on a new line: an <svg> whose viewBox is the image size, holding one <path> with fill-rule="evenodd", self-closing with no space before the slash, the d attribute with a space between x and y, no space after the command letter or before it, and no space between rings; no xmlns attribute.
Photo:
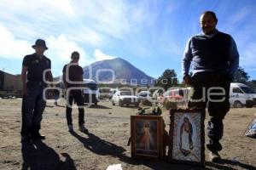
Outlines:
<svg viewBox="0 0 256 170"><path fill-rule="evenodd" d="M230 71L229 76L231 80L234 80L235 73L239 66L239 54L236 48L235 40L230 37Z"/></svg>

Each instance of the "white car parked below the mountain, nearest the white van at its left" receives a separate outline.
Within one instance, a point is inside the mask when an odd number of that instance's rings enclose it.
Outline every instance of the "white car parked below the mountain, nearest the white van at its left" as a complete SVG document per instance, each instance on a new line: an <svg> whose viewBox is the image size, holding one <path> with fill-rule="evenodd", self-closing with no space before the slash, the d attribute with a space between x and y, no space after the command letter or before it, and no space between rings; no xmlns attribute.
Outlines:
<svg viewBox="0 0 256 170"><path fill-rule="evenodd" d="M116 91L111 99L112 105L139 105L140 100L137 96L131 95L131 91Z"/></svg>

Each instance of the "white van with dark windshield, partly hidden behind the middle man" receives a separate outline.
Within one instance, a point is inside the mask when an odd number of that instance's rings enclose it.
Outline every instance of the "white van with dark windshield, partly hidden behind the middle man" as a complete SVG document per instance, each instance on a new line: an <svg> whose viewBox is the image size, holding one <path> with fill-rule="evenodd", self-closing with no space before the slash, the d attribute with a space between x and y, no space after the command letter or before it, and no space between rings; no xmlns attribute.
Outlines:
<svg viewBox="0 0 256 170"><path fill-rule="evenodd" d="M84 79L84 103L94 103L94 105L97 105L99 102L99 88L97 82L95 82L92 79Z"/></svg>

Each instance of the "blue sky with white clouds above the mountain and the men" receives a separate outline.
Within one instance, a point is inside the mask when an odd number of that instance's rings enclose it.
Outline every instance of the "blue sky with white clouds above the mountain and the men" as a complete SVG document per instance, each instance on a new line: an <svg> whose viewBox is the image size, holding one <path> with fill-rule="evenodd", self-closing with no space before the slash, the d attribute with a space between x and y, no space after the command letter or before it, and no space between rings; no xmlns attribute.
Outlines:
<svg viewBox="0 0 256 170"><path fill-rule="evenodd" d="M174 69L181 79L186 42L201 31L200 14L212 10L218 30L234 37L241 67L256 79L254 0L2 0L0 8L0 69L13 74L43 38L55 77L77 50L82 66L120 57L148 76Z"/></svg>

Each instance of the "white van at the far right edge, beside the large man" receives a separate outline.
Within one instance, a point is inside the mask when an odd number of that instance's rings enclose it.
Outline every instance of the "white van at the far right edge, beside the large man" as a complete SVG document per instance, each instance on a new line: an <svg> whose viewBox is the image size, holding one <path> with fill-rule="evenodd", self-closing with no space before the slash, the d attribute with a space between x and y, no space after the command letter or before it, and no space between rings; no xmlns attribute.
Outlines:
<svg viewBox="0 0 256 170"><path fill-rule="evenodd" d="M247 85L232 82L230 84L230 105L236 108L243 106L253 107L256 102L256 93Z"/></svg>

